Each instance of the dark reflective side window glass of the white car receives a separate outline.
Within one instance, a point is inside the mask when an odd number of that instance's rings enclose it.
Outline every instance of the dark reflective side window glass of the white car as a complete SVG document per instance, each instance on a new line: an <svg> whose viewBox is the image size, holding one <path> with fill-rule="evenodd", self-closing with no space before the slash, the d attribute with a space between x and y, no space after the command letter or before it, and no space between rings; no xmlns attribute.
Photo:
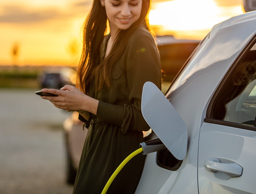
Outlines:
<svg viewBox="0 0 256 194"><path fill-rule="evenodd" d="M256 50L250 50L217 97L212 118L254 125L256 116Z"/></svg>

